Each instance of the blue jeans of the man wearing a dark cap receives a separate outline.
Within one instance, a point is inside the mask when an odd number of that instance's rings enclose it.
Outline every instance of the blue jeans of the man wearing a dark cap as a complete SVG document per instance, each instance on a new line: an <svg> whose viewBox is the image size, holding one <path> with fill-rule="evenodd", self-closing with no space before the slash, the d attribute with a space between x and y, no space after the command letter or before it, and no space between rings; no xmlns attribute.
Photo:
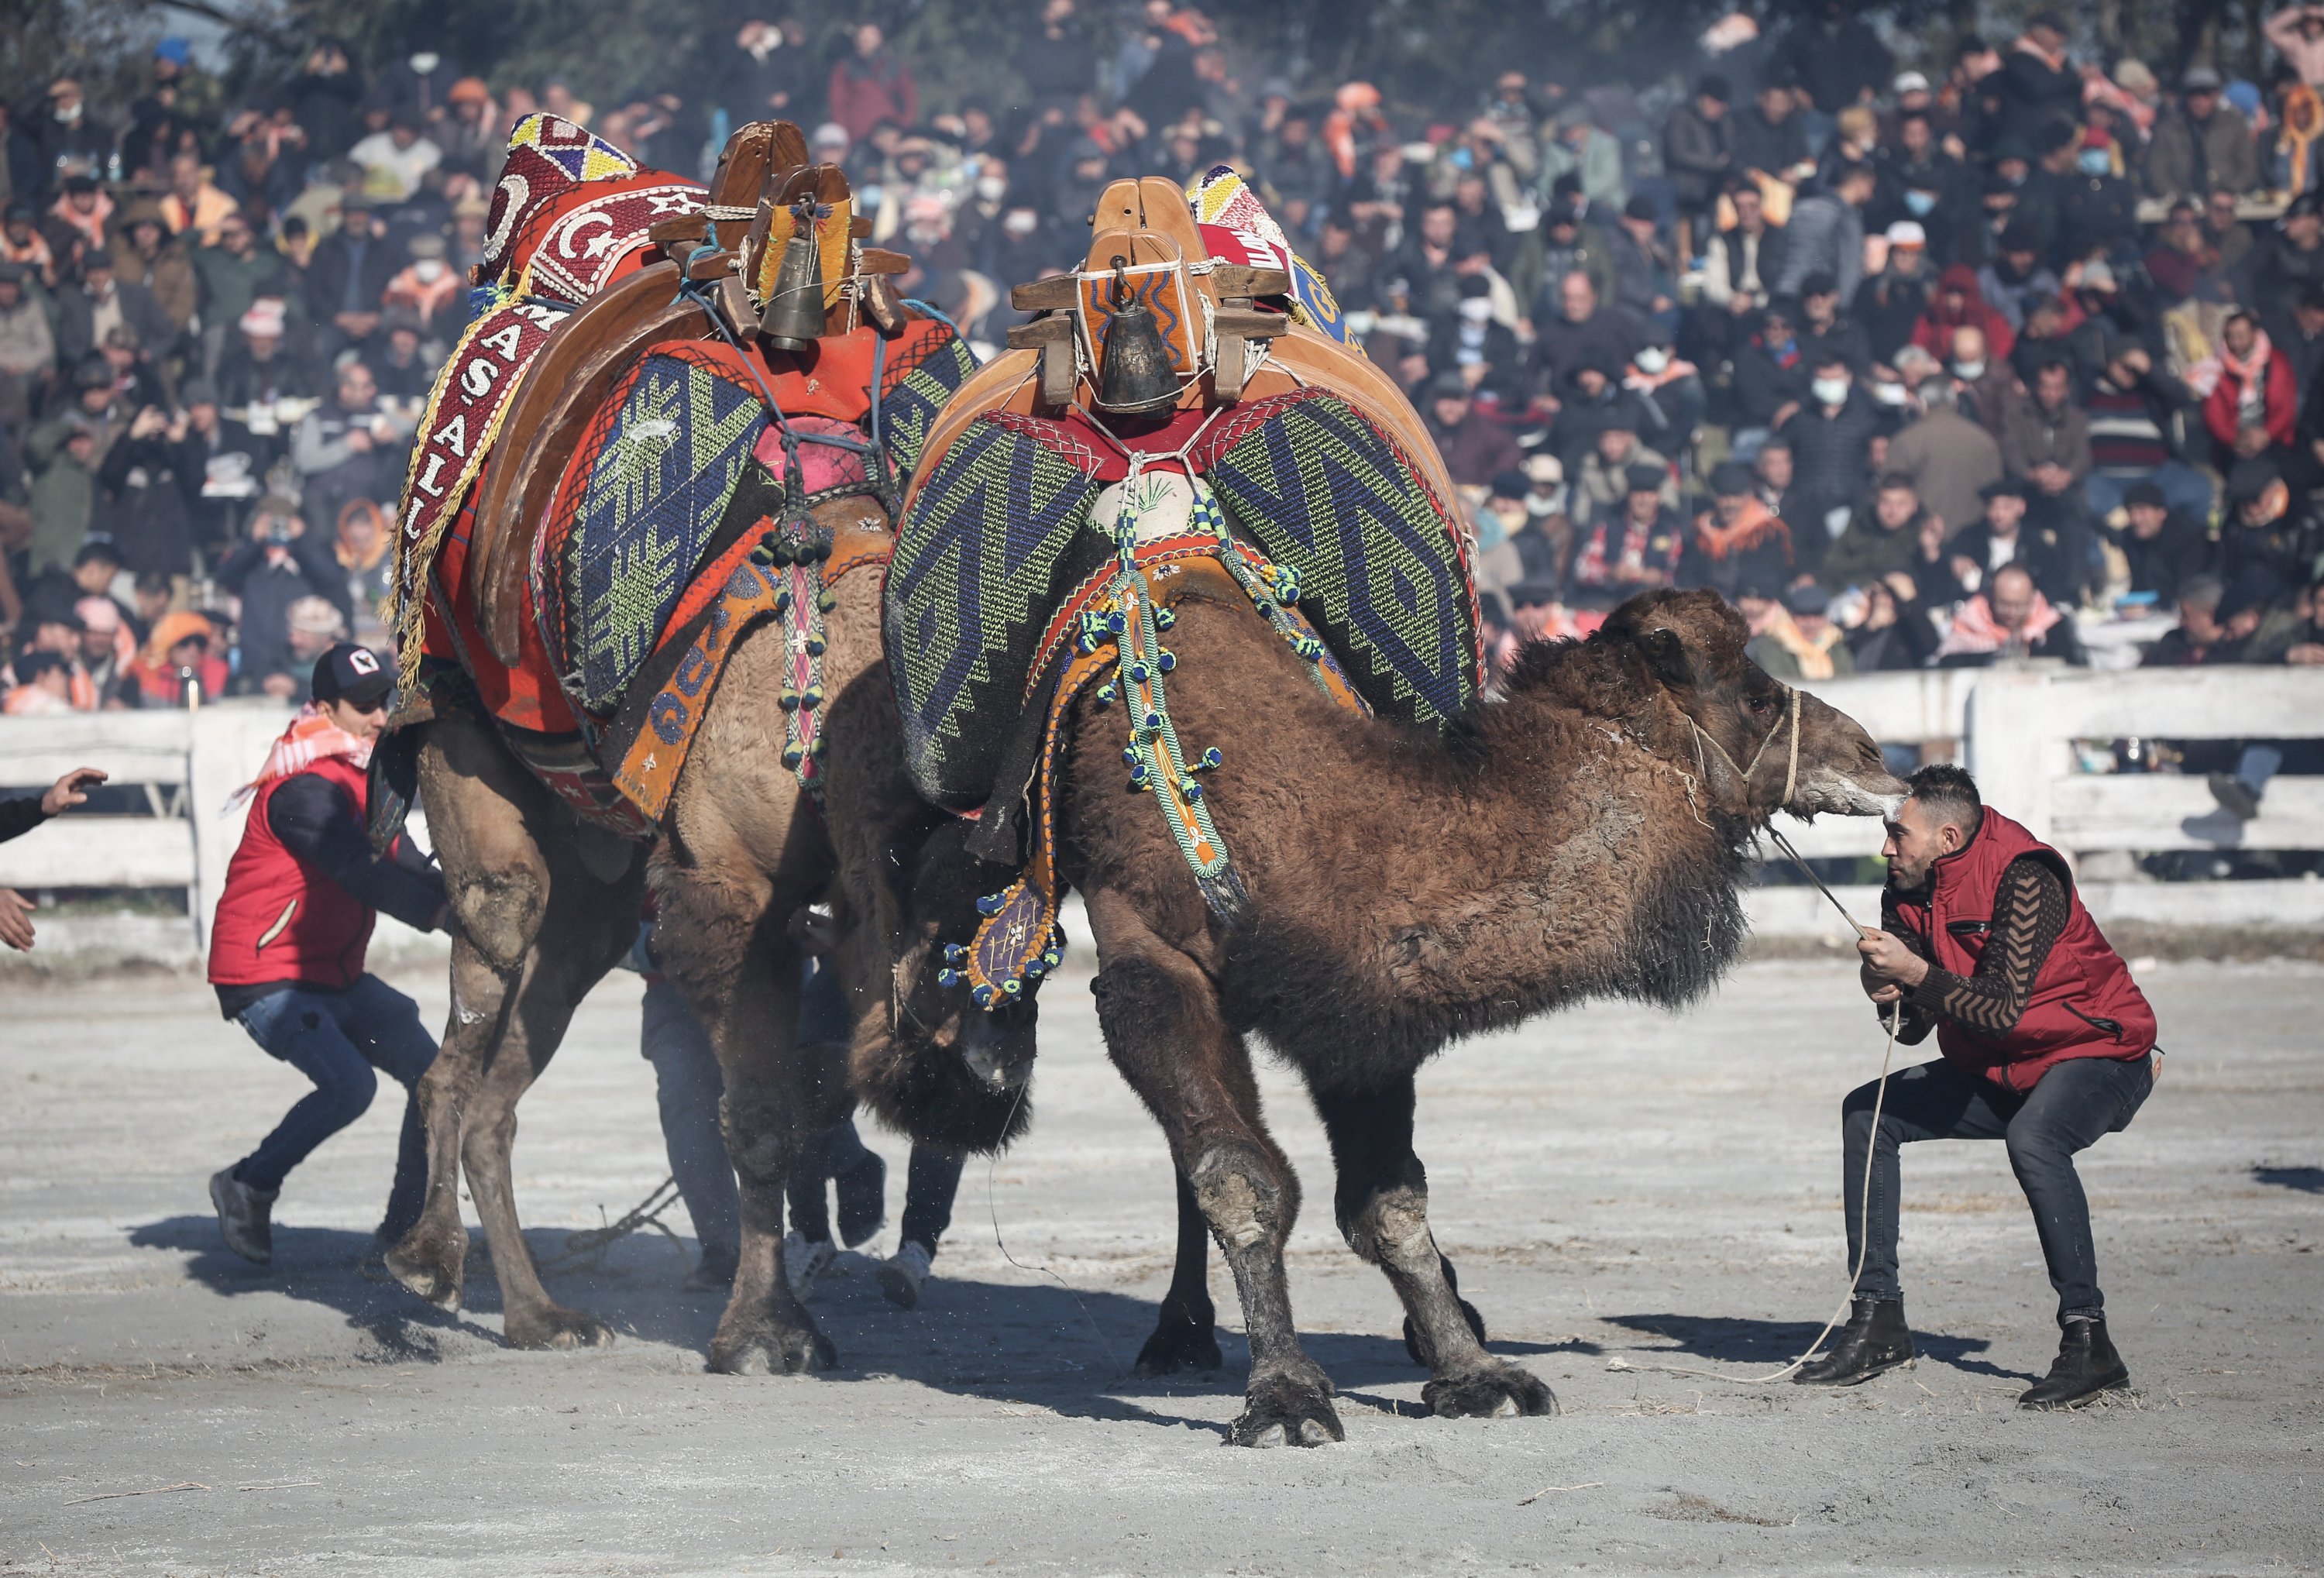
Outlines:
<svg viewBox="0 0 2324 1578"><path fill-rule="evenodd" d="M435 1062L437 1039L421 1025L418 1004L379 976L363 976L344 992L272 992L235 1018L258 1046L314 1081L258 1150L235 1164L235 1178L253 1190L279 1190L293 1167L372 1106L379 1092L372 1069L379 1069L404 1088L395 1185L379 1222L383 1239L402 1239L421 1220L428 1190L428 1134L414 1092Z"/></svg>

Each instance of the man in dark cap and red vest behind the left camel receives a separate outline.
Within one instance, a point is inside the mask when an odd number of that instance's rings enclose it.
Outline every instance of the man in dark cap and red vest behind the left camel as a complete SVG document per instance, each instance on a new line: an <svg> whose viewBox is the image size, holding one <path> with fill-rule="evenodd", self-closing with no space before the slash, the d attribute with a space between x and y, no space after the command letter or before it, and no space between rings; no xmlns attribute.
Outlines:
<svg viewBox="0 0 2324 1578"><path fill-rule="evenodd" d="M274 1257L270 1213L284 1176L365 1113L379 1090L372 1069L411 1092L437 1053L418 1006L363 971L381 909L423 932L444 923L444 876L407 839L374 860L365 832L365 767L393 688L388 665L363 646L342 641L316 660L314 702L251 783L209 930L218 1009L314 1081L258 1150L209 1181L225 1248L258 1264ZM379 1246L418 1220L425 1183L428 1139L407 1095Z"/></svg>

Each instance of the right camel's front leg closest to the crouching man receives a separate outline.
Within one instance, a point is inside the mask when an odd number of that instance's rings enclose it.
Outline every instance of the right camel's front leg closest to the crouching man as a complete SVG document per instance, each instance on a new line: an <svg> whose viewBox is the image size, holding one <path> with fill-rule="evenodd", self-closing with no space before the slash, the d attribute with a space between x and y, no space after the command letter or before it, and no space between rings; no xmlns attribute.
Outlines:
<svg viewBox="0 0 2324 1578"><path fill-rule="evenodd" d="M1413 1155L1413 1076L1387 1090L1313 1095L1339 1167L1339 1229L1404 1301L1415 1357L1434 1376L1422 1401L1446 1418L1557 1413L1557 1397L1532 1371L1485 1353L1476 1311L1455 1292L1450 1262L1436 1253L1429 1176Z"/></svg>

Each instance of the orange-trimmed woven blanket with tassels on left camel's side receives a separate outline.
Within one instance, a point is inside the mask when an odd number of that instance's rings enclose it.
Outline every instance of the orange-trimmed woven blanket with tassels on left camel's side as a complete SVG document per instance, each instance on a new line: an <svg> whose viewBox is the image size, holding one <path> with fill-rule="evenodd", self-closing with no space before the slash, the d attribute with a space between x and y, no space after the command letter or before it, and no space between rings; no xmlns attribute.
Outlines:
<svg viewBox="0 0 2324 1578"><path fill-rule="evenodd" d="M885 532L781 565L765 553L767 535L820 497L892 500L930 418L974 365L941 318L913 318L892 342L874 328L834 335L811 367L713 339L646 346L562 469L532 544L516 662L493 655L462 593L462 514L432 572L423 683L465 672L462 695L525 741L521 755L567 804L648 837L739 637L786 618L802 625L799 648L813 637L820 655L820 632L806 630L820 595L885 562ZM809 665L792 688L804 695L816 674ZM786 765L813 779L816 720L792 709L790 730L799 760L786 748ZM551 762L555 772L541 772Z"/></svg>

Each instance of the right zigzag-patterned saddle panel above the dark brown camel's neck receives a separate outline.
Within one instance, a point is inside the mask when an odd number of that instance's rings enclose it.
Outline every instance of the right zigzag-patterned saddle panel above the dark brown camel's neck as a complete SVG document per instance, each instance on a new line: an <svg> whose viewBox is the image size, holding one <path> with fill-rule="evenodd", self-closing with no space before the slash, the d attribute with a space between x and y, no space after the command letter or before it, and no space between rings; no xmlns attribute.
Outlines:
<svg viewBox="0 0 2324 1578"><path fill-rule="evenodd" d="M1234 528L1299 574L1301 611L1387 718L1441 727L1483 686L1459 528L1387 432L1322 390L1257 400L1192 456Z"/></svg>

